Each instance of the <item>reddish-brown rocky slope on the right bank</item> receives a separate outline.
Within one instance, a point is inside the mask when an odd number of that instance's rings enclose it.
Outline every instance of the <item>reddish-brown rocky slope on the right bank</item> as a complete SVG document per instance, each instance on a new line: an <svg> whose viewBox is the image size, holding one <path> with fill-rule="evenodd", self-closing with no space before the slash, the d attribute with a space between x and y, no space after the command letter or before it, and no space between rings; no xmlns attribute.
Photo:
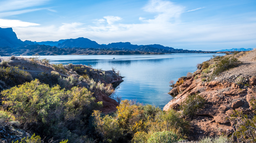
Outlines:
<svg viewBox="0 0 256 143"><path fill-rule="evenodd" d="M218 76L212 76L214 68L208 68L207 73L198 69L189 77L179 78L177 83L182 84L176 84L169 92L175 97L164 106L164 111L170 108L179 111L182 103L192 94L201 95L207 102L190 121L190 139L205 135L230 135L235 130L235 122L230 118L234 110L246 114L252 112L250 101L256 97L256 50L241 52L235 57L242 64ZM218 60L213 58L207 62L213 67Z"/></svg>

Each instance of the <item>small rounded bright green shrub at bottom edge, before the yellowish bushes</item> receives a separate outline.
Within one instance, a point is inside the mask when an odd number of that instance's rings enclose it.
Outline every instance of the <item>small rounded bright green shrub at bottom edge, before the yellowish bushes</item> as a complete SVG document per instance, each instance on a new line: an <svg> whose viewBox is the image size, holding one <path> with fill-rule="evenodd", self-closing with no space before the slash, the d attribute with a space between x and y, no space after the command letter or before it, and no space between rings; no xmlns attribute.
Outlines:
<svg viewBox="0 0 256 143"><path fill-rule="evenodd" d="M170 131L157 132L150 136L148 143L174 143L178 141L176 134Z"/></svg>

